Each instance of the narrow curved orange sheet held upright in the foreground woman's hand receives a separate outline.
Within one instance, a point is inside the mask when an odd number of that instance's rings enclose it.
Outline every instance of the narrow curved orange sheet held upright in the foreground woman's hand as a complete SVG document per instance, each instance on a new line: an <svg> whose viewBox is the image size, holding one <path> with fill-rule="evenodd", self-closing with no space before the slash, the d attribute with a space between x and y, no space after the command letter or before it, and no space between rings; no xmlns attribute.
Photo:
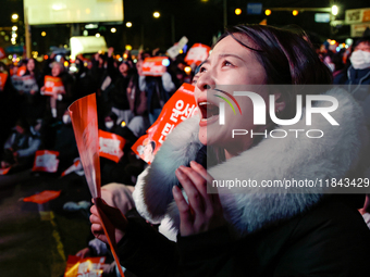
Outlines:
<svg viewBox="0 0 370 277"><path fill-rule="evenodd" d="M70 105L69 111L86 180L102 223L101 227L104 230L114 261L120 264L120 259L115 251L115 226L112 224L111 218L120 218L115 224L120 224L119 228L123 230L126 227L127 219L119 209L109 206L101 199L96 95L92 93L76 100ZM112 217L108 218L108 214ZM121 266L118 268L120 275L124 277Z"/></svg>

